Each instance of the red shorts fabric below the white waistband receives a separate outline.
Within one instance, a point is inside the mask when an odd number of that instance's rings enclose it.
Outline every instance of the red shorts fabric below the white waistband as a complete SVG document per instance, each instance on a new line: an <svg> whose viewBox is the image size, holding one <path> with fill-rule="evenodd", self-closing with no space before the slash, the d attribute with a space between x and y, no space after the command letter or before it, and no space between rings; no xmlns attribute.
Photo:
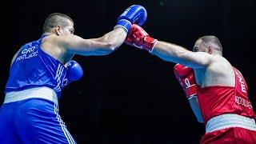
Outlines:
<svg viewBox="0 0 256 144"><path fill-rule="evenodd" d="M235 143L235 144L252 144L256 143L256 131L247 130L240 127L231 127L223 130L216 130L206 133L202 136L201 144L209 143Z"/></svg>

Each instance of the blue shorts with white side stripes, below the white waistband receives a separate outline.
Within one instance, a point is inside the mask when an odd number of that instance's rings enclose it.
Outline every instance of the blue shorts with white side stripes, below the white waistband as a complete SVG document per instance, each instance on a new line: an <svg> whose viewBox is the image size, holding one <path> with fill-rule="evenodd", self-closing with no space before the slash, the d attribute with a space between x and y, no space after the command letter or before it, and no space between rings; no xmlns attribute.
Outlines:
<svg viewBox="0 0 256 144"><path fill-rule="evenodd" d="M4 103L0 143L76 143L58 114L58 104L43 98Z"/></svg>

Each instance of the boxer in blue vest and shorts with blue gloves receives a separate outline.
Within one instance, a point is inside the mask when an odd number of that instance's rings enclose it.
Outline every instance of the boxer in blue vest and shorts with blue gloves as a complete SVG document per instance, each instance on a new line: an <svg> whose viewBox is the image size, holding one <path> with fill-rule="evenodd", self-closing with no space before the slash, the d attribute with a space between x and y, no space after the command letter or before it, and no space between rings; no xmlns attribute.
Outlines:
<svg viewBox="0 0 256 144"><path fill-rule="evenodd" d="M105 55L122 45L133 23L146 22L146 10L130 6L114 30L101 38L74 35L74 22L65 14L50 14L42 37L26 43L14 55L6 97L0 111L0 143L76 143L58 114L62 89L82 77L74 54Z"/></svg>

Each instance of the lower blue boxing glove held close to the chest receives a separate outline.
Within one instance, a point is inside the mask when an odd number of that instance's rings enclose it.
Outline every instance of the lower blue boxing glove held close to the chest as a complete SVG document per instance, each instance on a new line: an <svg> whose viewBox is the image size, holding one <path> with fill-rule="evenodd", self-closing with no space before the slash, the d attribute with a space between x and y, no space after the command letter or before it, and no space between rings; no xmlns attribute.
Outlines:
<svg viewBox="0 0 256 144"><path fill-rule="evenodd" d="M73 60L66 62L67 68L67 78L70 82L77 81L78 79L82 78L83 70L82 67Z"/></svg>

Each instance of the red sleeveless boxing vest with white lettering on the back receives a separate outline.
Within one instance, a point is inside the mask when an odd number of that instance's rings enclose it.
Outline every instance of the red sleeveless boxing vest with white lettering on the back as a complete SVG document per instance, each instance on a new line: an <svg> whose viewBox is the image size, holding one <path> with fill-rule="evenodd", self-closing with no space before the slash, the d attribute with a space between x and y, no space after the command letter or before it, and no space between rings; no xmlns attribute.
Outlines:
<svg viewBox="0 0 256 144"><path fill-rule="evenodd" d="M242 74L234 68L235 86L198 87L198 102L204 122L220 114L239 114L256 118L247 96L248 87Z"/></svg>

